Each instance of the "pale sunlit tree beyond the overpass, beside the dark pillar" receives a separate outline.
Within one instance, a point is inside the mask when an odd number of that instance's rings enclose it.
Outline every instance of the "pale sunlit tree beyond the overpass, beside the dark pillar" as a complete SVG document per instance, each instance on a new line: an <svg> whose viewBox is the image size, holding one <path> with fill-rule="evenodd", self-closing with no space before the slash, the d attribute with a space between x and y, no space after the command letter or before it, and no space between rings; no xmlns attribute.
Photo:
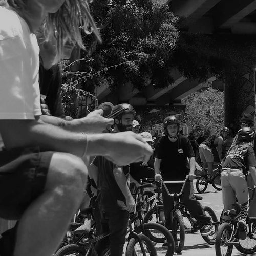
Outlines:
<svg viewBox="0 0 256 256"><path fill-rule="evenodd" d="M223 126L223 92L208 87L182 99L186 105L184 122L195 134L202 131L216 132Z"/></svg>

